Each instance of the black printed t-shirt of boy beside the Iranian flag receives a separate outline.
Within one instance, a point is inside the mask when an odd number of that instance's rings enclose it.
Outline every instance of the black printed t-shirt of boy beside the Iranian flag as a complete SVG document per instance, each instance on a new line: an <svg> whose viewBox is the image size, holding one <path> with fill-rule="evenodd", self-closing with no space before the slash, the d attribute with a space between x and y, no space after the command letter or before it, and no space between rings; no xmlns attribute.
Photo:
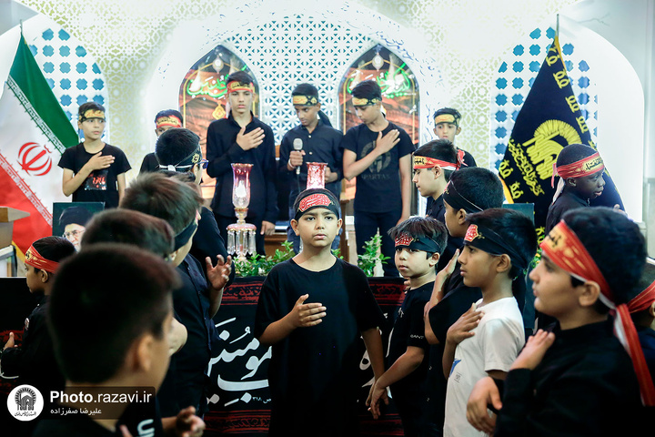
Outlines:
<svg viewBox="0 0 655 437"><path fill-rule="evenodd" d="M114 163L108 168L94 170L73 192L74 202L105 202L105 208L118 207L118 175L125 173L131 167L123 150L108 144L101 150L101 156L113 156ZM72 170L77 174L89 159L95 154L88 153L84 143L65 149L62 157L59 159L59 167Z"/></svg>

